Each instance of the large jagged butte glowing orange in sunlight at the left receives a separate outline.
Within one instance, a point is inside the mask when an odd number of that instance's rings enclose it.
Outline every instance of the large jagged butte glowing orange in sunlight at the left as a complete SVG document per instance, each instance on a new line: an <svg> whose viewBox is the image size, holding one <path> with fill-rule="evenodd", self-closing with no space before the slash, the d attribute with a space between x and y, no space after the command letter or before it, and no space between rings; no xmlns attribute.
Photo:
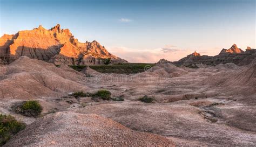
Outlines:
<svg viewBox="0 0 256 147"><path fill-rule="evenodd" d="M9 64L18 57L27 56L68 65L104 64L104 59L111 58L112 63L127 62L107 52L97 41L79 43L69 29L60 29L60 25L50 30L42 25L15 35L4 34L0 38L0 59Z"/></svg>

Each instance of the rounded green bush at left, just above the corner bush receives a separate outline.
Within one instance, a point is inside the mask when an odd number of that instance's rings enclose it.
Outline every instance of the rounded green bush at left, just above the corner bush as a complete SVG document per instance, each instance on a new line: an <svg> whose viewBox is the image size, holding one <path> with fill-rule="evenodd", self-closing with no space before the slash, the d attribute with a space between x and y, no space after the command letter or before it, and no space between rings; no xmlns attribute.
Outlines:
<svg viewBox="0 0 256 147"><path fill-rule="evenodd" d="M36 117L41 114L43 108L37 101L26 101L15 108L15 112L25 115Z"/></svg>

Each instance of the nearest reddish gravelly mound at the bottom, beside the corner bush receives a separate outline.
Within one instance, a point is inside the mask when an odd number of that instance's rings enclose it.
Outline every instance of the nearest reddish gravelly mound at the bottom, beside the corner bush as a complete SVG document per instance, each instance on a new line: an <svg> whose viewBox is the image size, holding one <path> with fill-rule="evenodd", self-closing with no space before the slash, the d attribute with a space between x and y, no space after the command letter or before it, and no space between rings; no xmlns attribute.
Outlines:
<svg viewBox="0 0 256 147"><path fill-rule="evenodd" d="M168 139L137 132L95 114L61 112L33 122L5 146L174 146Z"/></svg>

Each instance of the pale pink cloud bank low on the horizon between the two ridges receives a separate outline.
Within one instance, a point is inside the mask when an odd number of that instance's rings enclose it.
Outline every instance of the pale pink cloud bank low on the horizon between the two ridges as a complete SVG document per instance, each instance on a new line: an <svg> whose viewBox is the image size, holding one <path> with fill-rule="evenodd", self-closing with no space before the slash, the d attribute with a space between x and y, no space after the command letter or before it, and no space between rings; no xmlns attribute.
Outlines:
<svg viewBox="0 0 256 147"><path fill-rule="evenodd" d="M154 63L160 59L167 59L169 61L177 61L186 55L191 54L191 50L179 50L178 48L154 48L154 49L138 49L127 47L107 47L107 50L118 57L129 62L145 62Z"/></svg>

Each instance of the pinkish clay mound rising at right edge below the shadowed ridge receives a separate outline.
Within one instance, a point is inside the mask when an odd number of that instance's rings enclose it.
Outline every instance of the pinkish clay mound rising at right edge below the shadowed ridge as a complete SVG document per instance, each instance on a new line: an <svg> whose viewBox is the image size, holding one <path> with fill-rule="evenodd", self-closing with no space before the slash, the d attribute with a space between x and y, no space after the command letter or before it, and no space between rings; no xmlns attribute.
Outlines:
<svg viewBox="0 0 256 147"><path fill-rule="evenodd" d="M220 95L232 96L230 97L231 100L256 103L256 60L253 60L250 65L242 66L236 70L224 70L209 76L202 83L219 89Z"/></svg>

